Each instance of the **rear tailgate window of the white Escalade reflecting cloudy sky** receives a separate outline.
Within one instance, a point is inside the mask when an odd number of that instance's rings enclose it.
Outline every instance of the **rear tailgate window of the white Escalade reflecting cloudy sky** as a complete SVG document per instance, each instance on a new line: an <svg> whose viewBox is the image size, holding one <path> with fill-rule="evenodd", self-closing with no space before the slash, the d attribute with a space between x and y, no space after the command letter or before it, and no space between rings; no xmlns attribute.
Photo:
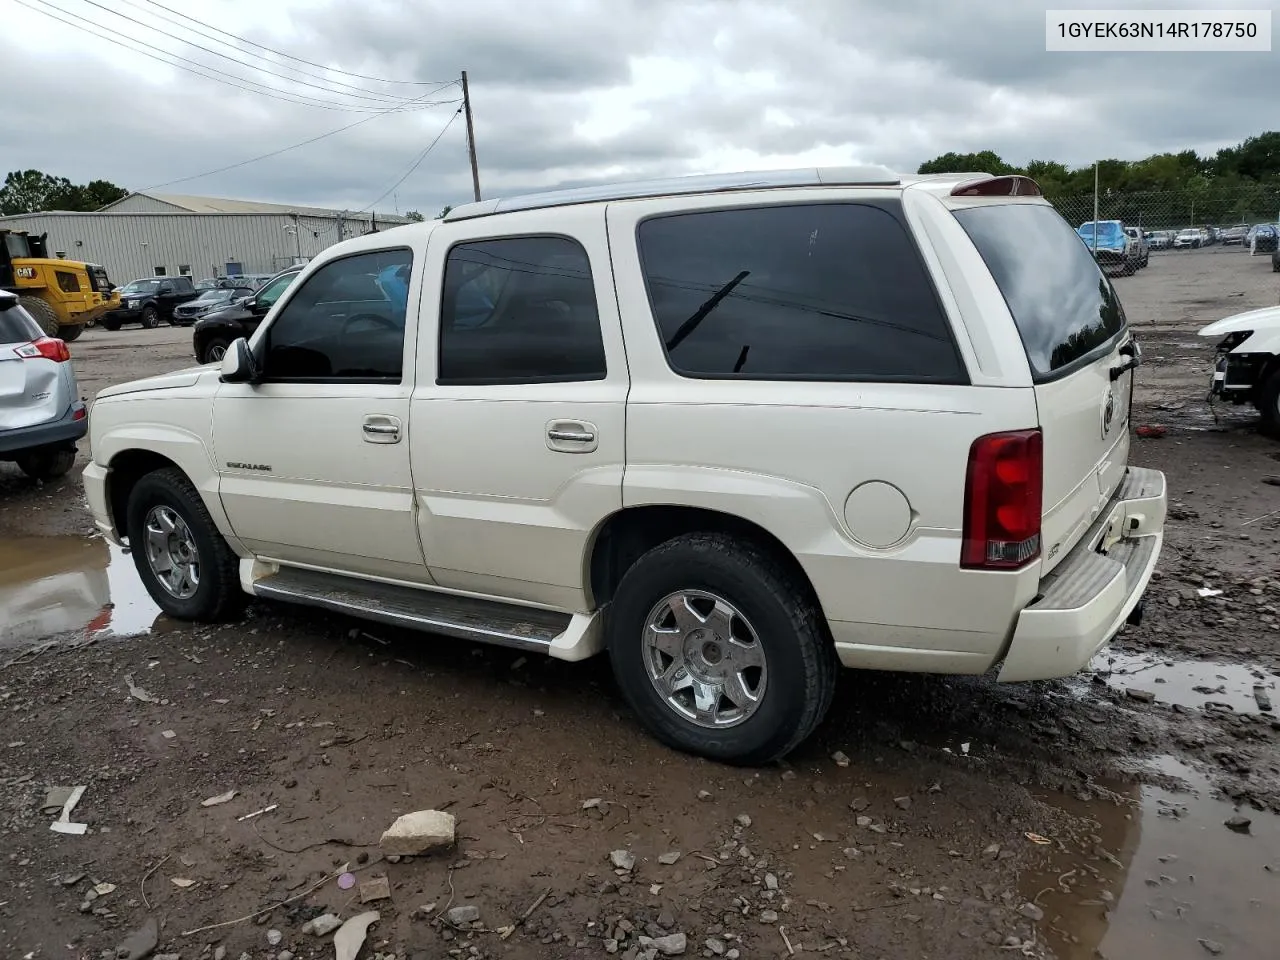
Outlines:
<svg viewBox="0 0 1280 960"><path fill-rule="evenodd" d="M1053 207L1004 204L955 216L1009 303L1037 381L1070 372L1124 332L1111 282Z"/></svg>

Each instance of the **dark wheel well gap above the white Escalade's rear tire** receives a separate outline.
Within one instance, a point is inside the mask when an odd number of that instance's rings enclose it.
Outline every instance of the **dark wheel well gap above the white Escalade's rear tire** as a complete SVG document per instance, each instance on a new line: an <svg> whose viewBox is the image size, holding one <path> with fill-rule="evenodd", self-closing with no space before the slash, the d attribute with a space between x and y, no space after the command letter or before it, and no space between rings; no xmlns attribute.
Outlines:
<svg viewBox="0 0 1280 960"><path fill-rule="evenodd" d="M818 594L800 561L786 545L759 524L732 513L700 507L631 507L614 513L596 530L590 557L591 596L596 605L613 599L623 575L654 547L684 534L719 532L751 540L769 550L809 589L810 599L822 609Z"/></svg>

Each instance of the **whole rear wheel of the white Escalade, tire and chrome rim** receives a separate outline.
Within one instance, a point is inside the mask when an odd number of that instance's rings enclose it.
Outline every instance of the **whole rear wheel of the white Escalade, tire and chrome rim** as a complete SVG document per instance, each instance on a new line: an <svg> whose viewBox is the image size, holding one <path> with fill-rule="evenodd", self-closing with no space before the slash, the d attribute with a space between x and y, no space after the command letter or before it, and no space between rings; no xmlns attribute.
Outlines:
<svg viewBox="0 0 1280 960"><path fill-rule="evenodd" d="M735 764L776 760L826 716L838 668L808 584L723 534L655 547L608 608L613 673L668 746Z"/></svg>

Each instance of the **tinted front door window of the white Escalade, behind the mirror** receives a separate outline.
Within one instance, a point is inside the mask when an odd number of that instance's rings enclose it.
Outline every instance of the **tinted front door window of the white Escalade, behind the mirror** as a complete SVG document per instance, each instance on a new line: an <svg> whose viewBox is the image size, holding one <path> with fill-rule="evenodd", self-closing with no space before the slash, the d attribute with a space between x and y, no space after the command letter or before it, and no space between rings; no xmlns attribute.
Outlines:
<svg viewBox="0 0 1280 960"><path fill-rule="evenodd" d="M384 250L316 270L266 332L266 379L398 383L412 262Z"/></svg>

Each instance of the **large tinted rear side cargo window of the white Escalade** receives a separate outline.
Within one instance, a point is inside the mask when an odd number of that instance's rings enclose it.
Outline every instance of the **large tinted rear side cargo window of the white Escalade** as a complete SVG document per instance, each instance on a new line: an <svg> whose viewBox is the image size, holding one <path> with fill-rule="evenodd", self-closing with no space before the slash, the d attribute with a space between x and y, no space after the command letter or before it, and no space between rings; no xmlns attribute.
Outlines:
<svg viewBox="0 0 1280 960"><path fill-rule="evenodd" d="M673 370L756 380L964 381L919 253L860 204L717 210L640 224Z"/></svg>

